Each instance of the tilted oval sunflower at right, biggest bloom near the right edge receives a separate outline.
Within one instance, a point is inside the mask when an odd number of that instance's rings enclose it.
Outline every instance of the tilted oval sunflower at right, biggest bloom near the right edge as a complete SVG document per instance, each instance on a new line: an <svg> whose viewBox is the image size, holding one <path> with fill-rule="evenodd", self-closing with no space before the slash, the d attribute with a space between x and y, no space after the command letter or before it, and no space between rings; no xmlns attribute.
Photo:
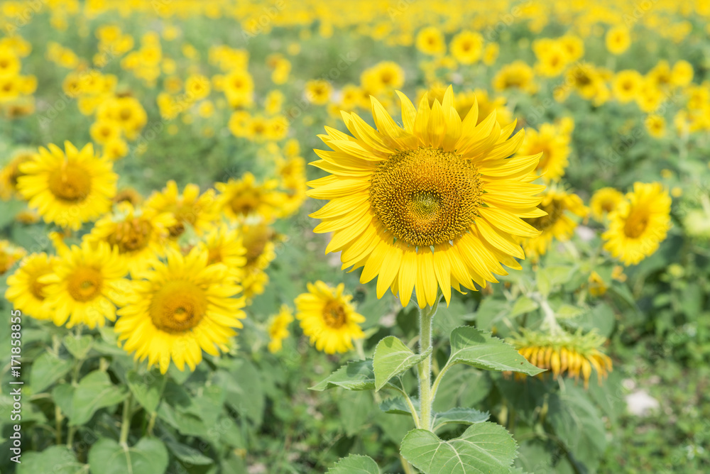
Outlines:
<svg viewBox="0 0 710 474"><path fill-rule="evenodd" d="M604 249L624 265L635 265L654 253L670 229L671 199L660 182L635 182L609 214L609 228L603 233Z"/></svg>

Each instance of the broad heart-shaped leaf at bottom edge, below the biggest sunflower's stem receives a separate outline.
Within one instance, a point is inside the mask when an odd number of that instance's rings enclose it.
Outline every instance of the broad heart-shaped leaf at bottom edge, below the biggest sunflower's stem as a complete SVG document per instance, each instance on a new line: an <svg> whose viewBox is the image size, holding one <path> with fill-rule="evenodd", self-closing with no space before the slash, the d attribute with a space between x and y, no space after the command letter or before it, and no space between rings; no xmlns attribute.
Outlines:
<svg viewBox="0 0 710 474"><path fill-rule="evenodd" d="M503 426L486 422L469 426L449 441L426 429L414 429L402 440L401 453L424 474L507 474L516 449Z"/></svg>

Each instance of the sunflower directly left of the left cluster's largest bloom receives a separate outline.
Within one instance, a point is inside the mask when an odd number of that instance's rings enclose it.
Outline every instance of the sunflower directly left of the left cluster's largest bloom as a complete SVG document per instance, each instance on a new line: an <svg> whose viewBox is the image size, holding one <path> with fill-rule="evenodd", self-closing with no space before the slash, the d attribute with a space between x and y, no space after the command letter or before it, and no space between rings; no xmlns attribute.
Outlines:
<svg viewBox="0 0 710 474"><path fill-rule="evenodd" d="M94 329L106 319L115 321L116 306L125 303L128 267L118 249L106 242L60 246L53 272L37 281L44 284L45 302L53 309L54 324L67 328L86 324ZM69 320L67 322L67 319Z"/></svg>

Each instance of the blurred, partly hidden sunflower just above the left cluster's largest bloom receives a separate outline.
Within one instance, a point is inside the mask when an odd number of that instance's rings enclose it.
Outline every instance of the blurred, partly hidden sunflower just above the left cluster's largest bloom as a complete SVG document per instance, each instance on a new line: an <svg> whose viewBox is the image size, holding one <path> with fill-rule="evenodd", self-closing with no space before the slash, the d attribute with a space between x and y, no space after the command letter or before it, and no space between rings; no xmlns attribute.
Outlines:
<svg viewBox="0 0 710 474"><path fill-rule="evenodd" d="M214 209L214 189L207 189L200 196L200 187L197 184L187 184L182 194L179 194L178 184L173 180L165 184L163 191L153 192L146 201L146 207L154 209L158 214L167 212L175 218L177 224L168 228L172 238L180 237L185 232L186 225L201 234L212 222L219 219Z"/></svg>

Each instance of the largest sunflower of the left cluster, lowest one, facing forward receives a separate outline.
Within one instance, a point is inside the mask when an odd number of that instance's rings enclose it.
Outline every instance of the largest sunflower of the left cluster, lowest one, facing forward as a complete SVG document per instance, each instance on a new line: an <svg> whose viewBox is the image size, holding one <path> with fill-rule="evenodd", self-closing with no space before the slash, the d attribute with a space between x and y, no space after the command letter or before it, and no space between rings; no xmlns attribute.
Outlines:
<svg viewBox="0 0 710 474"><path fill-rule="evenodd" d="M207 249L195 247L183 256L168 250L167 262L154 259L131 282L127 304L119 309L116 333L124 349L148 366L168 371L170 360L180 370L202 361L202 351L219 355L241 328L244 298L226 279L226 265L209 265Z"/></svg>

